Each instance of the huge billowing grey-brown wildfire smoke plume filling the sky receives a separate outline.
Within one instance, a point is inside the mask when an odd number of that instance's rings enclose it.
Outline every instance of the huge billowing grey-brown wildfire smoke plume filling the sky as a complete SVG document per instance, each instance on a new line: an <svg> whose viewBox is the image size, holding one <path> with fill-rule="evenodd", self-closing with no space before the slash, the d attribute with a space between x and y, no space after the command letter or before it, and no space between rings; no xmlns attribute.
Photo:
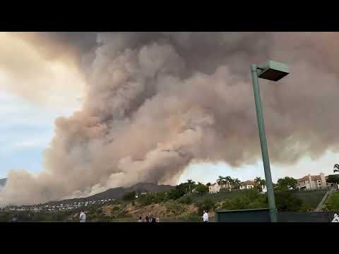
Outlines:
<svg viewBox="0 0 339 254"><path fill-rule="evenodd" d="M81 111L56 120L44 173L11 171L4 203L175 183L193 159L254 162L261 153L249 66L268 59L292 71L279 83L261 80L271 160L291 164L338 150L338 33L18 36L44 45L49 57L69 49L88 87Z"/></svg>

